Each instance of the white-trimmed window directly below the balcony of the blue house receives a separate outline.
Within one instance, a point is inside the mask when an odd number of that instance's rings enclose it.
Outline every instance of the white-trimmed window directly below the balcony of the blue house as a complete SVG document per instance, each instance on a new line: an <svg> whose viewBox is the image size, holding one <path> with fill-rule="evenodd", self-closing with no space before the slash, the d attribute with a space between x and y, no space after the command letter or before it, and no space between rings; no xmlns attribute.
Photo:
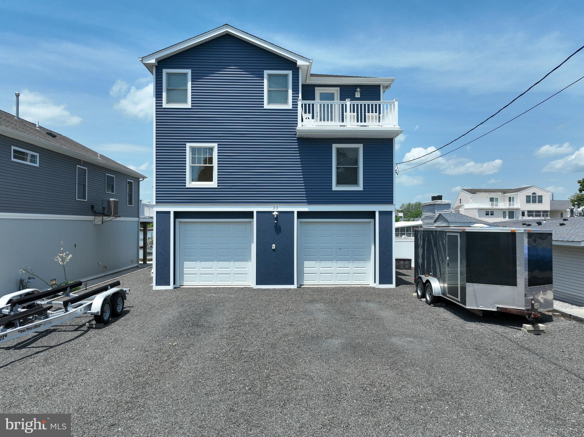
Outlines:
<svg viewBox="0 0 584 437"><path fill-rule="evenodd" d="M363 145L332 145L332 189L363 190Z"/></svg>

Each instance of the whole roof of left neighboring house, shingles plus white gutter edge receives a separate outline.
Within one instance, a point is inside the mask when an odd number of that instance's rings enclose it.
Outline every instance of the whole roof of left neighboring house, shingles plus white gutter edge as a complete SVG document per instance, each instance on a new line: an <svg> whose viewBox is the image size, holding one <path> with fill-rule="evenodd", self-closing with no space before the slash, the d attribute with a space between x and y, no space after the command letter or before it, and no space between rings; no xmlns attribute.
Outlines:
<svg viewBox="0 0 584 437"><path fill-rule="evenodd" d="M101 167L117 170L118 172L139 179L146 179L144 174L138 173L113 159L107 158L107 156L95 152L69 137L65 137L65 135L57 134L42 126L39 126L37 129L36 124L30 123L30 121L23 120L22 118L16 118L11 113L2 110L0 110L0 135L19 139L20 141L62 153L63 155L82 159Z"/></svg>

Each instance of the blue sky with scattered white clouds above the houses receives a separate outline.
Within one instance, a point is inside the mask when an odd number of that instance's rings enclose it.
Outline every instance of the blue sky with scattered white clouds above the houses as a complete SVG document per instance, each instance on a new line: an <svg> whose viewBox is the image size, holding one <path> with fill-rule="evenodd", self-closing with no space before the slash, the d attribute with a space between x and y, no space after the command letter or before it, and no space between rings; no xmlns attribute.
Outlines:
<svg viewBox="0 0 584 437"><path fill-rule="evenodd" d="M582 2L92 5L0 4L0 109L14 110L18 90L24 118L146 174L143 200L152 198L152 76L138 57L224 23L313 59L314 73L395 77L385 99L399 98L400 161L458 137L584 45ZM582 75L584 51L464 138ZM531 184L567 198L584 177L583 97L584 79L472 145L400 173L396 203L453 199L457 187Z"/></svg>

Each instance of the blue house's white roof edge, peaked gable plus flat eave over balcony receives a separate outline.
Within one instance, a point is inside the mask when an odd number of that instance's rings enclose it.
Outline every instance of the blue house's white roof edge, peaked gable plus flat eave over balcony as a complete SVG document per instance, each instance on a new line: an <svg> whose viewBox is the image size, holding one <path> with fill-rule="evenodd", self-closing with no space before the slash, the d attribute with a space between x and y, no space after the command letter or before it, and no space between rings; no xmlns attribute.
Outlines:
<svg viewBox="0 0 584 437"><path fill-rule="evenodd" d="M188 50L189 48L206 43L207 41L223 35L232 35L241 40L247 41L254 46L261 47L267 51L286 58L288 61L296 62L297 67L300 68L303 83L332 85L382 85L383 90L385 91L390 89L391 83L395 80L394 78L373 78L369 76L344 76L331 74L311 75L311 59L305 58L304 56L287 50L286 48L276 46L276 44L270 43L269 41L263 40L255 35L252 35L251 33L244 32L243 30L237 29L237 27L233 27L228 24L216 27L215 29L209 30L208 32L193 36L192 38L189 38L185 41L180 41L180 43L173 44L170 47L163 48L162 50L155 51L150 55L142 56L138 59L142 62L142 64L144 64L146 68L148 68L148 71L152 73L154 71L154 67L158 65L159 60L171 57L172 55L180 53L183 50Z"/></svg>

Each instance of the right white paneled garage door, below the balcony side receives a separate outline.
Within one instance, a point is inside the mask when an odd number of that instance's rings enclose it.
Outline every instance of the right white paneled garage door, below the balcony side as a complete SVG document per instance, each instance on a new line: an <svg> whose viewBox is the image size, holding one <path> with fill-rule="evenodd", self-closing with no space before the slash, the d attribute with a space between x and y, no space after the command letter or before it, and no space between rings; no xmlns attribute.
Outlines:
<svg viewBox="0 0 584 437"><path fill-rule="evenodd" d="M371 284L370 222L300 222L300 284Z"/></svg>

